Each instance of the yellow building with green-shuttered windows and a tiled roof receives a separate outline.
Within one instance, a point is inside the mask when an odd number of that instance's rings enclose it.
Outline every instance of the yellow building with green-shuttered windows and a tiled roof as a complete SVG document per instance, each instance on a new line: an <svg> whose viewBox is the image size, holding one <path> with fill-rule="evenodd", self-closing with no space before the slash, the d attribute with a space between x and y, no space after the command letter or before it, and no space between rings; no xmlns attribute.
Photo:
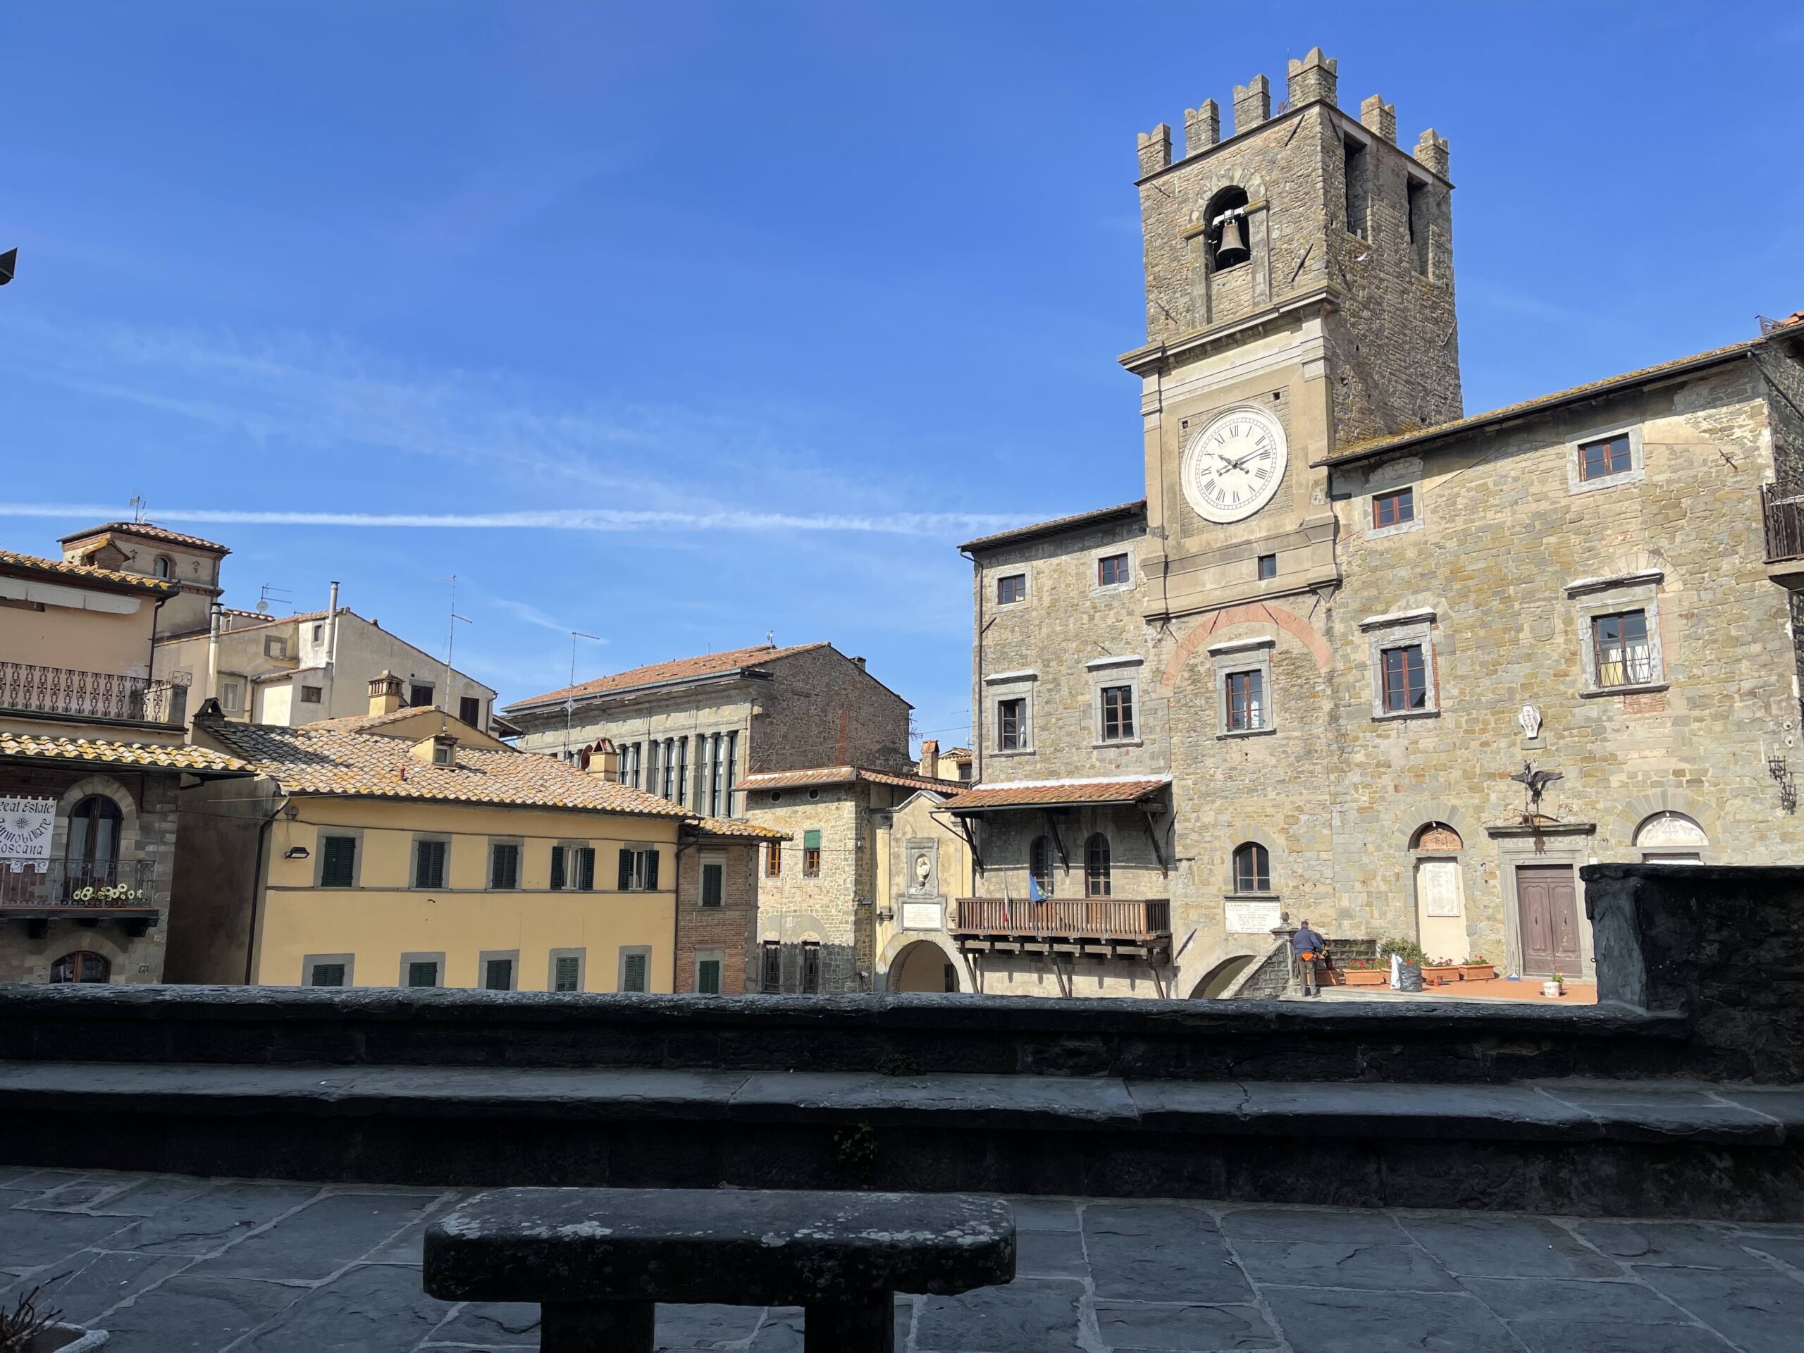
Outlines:
<svg viewBox="0 0 1804 1353"><path fill-rule="evenodd" d="M182 794L168 980L671 990L691 815L370 687L303 727L197 714L260 776Z"/></svg>

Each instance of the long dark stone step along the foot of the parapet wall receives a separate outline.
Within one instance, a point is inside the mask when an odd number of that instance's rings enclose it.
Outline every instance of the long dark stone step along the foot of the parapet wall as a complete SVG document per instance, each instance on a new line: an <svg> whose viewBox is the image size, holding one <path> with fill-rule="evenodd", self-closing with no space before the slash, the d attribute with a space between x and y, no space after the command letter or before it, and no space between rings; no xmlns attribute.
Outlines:
<svg viewBox="0 0 1804 1353"><path fill-rule="evenodd" d="M0 1164L1804 1220L1804 1090L0 1063Z"/></svg>

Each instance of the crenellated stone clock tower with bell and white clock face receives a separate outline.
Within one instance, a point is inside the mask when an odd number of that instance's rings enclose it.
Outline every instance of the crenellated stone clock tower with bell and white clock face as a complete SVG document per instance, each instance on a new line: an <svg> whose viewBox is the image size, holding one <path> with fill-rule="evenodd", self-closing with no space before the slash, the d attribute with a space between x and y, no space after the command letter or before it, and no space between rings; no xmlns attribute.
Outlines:
<svg viewBox="0 0 1804 1353"><path fill-rule="evenodd" d="M1396 110L1335 103L1335 63L1290 63L1140 137L1147 345L1122 357L1146 417L1146 619L1340 581L1335 447L1461 415L1447 143L1396 146Z"/></svg>

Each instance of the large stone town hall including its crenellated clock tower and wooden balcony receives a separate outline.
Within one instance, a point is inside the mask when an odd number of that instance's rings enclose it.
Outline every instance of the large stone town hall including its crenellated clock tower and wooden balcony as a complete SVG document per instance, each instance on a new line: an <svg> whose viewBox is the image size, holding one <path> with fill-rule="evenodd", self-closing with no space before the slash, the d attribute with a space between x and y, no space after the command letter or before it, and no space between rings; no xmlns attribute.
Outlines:
<svg viewBox="0 0 1804 1353"><path fill-rule="evenodd" d="M1589 976L1578 864L1804 859L1804 323L1463 417L1447 141L1335 78L1140 137L1146 498L963 547L983 990L1218 994L1286 913Z"/></svg>

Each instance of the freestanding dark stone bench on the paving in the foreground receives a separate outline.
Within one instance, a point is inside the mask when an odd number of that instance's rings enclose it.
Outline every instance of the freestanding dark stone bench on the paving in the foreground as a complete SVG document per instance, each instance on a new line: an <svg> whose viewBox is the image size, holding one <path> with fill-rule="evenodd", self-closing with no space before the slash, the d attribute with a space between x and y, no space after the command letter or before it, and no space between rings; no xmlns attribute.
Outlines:
<svg viewBox="0 0 1804 1353"><path fill-rule="evenodd" d="M1014 1279L994 1198L498 1189L426 1232L426 1292L538 1302L545 1353L651 1353L657 1302L803 1306L808 1353L891 1353L895 1293Z"/></svg>

